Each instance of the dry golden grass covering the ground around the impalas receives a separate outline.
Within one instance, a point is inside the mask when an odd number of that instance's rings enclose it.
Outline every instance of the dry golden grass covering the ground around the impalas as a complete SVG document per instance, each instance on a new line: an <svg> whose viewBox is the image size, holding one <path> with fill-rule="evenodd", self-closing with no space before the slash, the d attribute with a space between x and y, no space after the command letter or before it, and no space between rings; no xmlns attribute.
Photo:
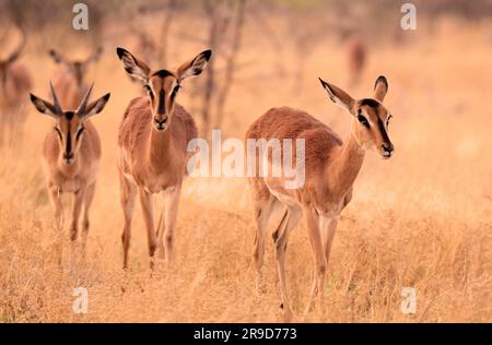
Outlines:
<svg viewBox="0 0 492 345"><path fill-rule="evenodd" d="M272 22L280 27L282 17ZM185 17L176 25L199 29L199 21ZM243 138L247 126L267 109L289 105L307 110L347 138L350 119L331 104L317 76L354 97L371 96L379 74L389 81L385 104L394 115L389 135L395 156L382 160L366 155L335 238L324 316L315 311L302 318L314 261L304 224L291 236L286 274L295 321L492 321L492 25L454 20L434 25L432 34L409 33L413 38L408 44L374 39L362 81L352 87L347 86L345 52L336 40L326 38L309 55L305 80L298 85L272 68L281 59L292 71L293 52L284 49L279 57L260 39L260 28L247 26L241 59L255 63L237 75L242 82L234 84L227 102L224 136ZM266 292L255 295L255 229L246 179L186 180L174 265L167 270L157 265L152 275L138 206L129 270L121 270L116 138L121 115L140 90L125 75L114 53L116 45L129 43L107 44L90 74L96 82L94 96L112 92L112 99L94 118L104 155L85 260L70 245L68 228L61 267L55 254L57 234L40 167L40 144L52 126L50 119L30 108L24 140L0 151L0 321L281 321L271 240ZM206 48L171 37L171 47L175 46L180 49L169 58L174 64ZM54 63L46 53L26 53L22 61L34 75L34 92L48 97ZM187 86L196 82L187 81L179 95L185 107L192 102ZM69 217L71 200L65 202ZM160 205L155 197L156 217ZM87 314L72 311L72 290L79 286L89 292ZM414 314L400 311L403 287L418 292Z"/></svg>

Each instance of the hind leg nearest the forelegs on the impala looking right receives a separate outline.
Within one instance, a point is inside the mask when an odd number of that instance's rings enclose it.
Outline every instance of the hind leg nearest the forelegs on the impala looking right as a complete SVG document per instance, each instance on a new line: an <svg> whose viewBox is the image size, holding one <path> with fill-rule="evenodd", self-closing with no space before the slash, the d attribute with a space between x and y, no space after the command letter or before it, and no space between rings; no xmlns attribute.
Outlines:
<svg viewBox="0 0 492 345"><path fill-rule="evenodd" d="M291 234L292 229L298 224L301 217L301 209L289 207L288 210L285 210L282 221L273 233L273 242L276 245L277 254L277 270L280 281L280 295L282 298L281 308L284 312L284 322L291 322L293 317L292 308L289 302L289 295L286 292L285 251L289 241L289 235Z"/></svg>

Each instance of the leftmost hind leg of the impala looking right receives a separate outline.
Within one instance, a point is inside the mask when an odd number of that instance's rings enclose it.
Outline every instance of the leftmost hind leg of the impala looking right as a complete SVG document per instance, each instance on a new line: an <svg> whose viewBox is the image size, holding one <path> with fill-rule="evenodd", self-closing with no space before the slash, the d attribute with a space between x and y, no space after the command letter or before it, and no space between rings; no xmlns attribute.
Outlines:
<svg viewBox="0 0 492 345"><path fill-rule="evenodd" d="M267 234L268 221L273 211L276 198L268 194L267 198L254 198L254 213L256 223L255 246L253 250L253 258L256 266L256 290L261 294L262 289L262 266L265 258L265 237Z"/></svg>

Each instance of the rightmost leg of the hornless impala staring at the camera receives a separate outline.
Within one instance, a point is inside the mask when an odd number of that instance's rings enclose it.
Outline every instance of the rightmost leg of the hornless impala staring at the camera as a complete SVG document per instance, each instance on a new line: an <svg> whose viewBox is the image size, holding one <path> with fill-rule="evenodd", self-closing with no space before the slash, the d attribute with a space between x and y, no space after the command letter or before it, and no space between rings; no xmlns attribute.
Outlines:
<svg viewBox="0 0 492 345"><path fill-rule="evenodd" d="M159 246L161 247L160 250L164 248L166 263L171 263L173 260L174 228L176 226L181 186L178 185L171 191L167 191L164 199L164 222L159 233Z"/></svg>

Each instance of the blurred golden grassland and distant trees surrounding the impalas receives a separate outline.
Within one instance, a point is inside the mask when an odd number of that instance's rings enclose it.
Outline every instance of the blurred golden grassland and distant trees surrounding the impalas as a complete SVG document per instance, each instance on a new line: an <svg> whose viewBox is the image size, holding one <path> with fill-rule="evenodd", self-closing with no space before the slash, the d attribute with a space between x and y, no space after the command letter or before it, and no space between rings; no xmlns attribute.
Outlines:
<svg viewBox="0 0 492 345"><path fill-rule="evenodd" d="M395 157L382 162L367 154L335 238L328 313L306 321L492 321L492 1L412 1L415 31L401 28L405 1L393 0L85 1L89 31L72 28L74 3L0 0L0 61L14 57L12 66L28 76L19 93L9 95L7 88L0 97L0 321L281 320L272 246L268 292L254 296L254 224L245 179L186 181L176 267L152 278L137 210L131 270L121 272L117 129L128 103L143 90L126 75L118 46L153 69L213 50L207 70L186 81L177 99L203 138L221 129L223 139L242 139L256 118L286 105L344 139L350 118L332 105L317 78L363 98L372 96L376 78L386 75ZM87 261L67 259L59 271L39 164L52 123L27 104L27 93L49 99L48 81L63 72L49 50L85 61L101 48L84 75L85 83L95 82L94 97L112 93L94 118L103 163L91 254ZM67 198L67 209L70 202ZM312 269L300 225L286 263L298 313ZM86 316L71 311L77 286L89 289ZM406 286L418 290L415 314L400 311Z"/></svg>

